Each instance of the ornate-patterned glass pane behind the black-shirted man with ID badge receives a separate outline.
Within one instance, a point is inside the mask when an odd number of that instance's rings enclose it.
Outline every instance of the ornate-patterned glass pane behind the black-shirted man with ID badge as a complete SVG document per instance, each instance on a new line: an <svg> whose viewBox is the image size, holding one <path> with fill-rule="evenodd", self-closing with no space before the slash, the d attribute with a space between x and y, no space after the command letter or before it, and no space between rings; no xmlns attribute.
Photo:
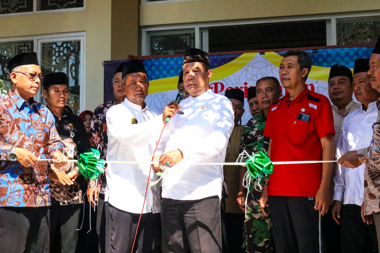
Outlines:
<svg viewBox="0 0 380 253"><path fill-rule="evenodd" d="M68 105L74 114L79 114L80 97L80 63L81 41L57 41L41 43L41 71L42 75L53 72L64 72L68 76L70 97ZM46 101L41 94L41 103Z"/></svg>

